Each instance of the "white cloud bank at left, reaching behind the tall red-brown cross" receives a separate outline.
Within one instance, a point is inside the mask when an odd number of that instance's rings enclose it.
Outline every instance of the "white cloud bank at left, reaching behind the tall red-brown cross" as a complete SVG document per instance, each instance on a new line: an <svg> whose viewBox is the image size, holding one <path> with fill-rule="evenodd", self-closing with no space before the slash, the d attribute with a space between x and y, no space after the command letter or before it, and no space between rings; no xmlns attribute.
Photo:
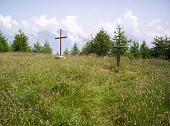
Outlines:
<svg viewBox="0 0 170 126"><path fill-rule="evenodd" d="M14 35L18 29L22 29L28 35L36 37L40 31L49 31L56 33L60 28L68 32L68 39L73 44L87 38L86 33L78 25L76 16L66 16L63 20L58 21L56 17L46 15L34 16L29 20L16 21L10 16L0 15L0 29L5 34Z"/></svg>

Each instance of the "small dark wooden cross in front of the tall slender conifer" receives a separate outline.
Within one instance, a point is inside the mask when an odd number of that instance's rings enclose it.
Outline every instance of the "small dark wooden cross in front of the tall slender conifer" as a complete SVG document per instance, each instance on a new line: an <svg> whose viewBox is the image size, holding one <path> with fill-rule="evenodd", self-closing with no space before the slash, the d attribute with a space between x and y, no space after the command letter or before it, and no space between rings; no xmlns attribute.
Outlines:
<svg viewBox="0 0 170 126"><path fill-rule="evenodd" d="M119 40L118 44L113 46L114 48L116 48L116 61L117 61L117 66L120 65L120 50L121 48L126 48L126 46L121 46L120 45L120 39L113 39L113 40Z"/></svg>

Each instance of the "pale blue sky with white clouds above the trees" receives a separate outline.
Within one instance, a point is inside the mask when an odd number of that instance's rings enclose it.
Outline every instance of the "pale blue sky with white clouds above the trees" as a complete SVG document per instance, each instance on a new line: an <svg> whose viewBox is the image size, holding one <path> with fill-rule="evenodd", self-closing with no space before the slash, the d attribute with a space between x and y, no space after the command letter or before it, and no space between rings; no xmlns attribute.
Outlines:
<svg viewBox="0 0 170 126"><path fill-rule="evenodd" d="M121 24L127 35L150 44L156 35L170 35L169 12L170 0L0 0L0 31L14 36L22 29L37 40L39 32L53 38L62 28L68 35L65 47L71 48L101 27L113 35Z"/></svg>

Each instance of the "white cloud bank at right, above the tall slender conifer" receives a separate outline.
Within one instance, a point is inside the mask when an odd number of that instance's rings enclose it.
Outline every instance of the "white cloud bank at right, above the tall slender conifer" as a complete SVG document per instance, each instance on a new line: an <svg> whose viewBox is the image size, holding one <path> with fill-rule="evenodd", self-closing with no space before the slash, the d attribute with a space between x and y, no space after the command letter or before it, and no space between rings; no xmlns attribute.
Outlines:
<svg viewBox="0 0 170 126"><path fill-rule="evenodd" d="M126 10L123 16L119 17L115 21L105 22L100 24L99 27L103 27L109 34L113 34L115 26L120 24L125 29L126 33L136 36L137 38L143 38L146 41L152 41L154 36L162 36L170 34L169 22L161 22L159 18L155 18L145 24L143 27L140 24L138 17L133 14L131 10ZM150 44L150 43L149 43Z"/></svg>

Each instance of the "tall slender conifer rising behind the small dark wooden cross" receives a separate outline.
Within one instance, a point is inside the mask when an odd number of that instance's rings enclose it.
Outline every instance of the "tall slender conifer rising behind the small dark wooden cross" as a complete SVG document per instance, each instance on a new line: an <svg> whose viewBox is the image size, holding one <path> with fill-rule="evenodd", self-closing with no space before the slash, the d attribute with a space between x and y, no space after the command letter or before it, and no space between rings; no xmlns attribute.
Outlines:
<svg viewBox="0 0 170 126"><path fill-rule="evenodd" d="M125 48L121 48L120 54L124 54L128 50L128 41L127 37L125 36L125 32L123 28L118 25L116 27L116 31L114 32L114 37L113 37L113 44L112 44L112 50L115 50L115 46L124 46ZM113 53L114 51L112 51Z"/></svg>

